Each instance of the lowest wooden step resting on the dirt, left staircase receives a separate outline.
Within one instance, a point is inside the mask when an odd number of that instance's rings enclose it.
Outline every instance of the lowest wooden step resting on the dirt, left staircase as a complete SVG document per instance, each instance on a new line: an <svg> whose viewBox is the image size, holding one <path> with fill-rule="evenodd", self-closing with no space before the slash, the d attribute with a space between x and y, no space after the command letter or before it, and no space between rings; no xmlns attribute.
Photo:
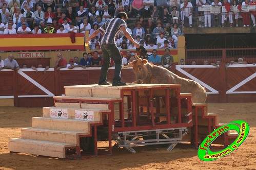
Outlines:
<svg viewBox="0 0 256 170"><path fill-rule="evenodd" d="M50 142L23 138L10 139L8 142L8 150L10 152L28 153L57 158L65 158L65 148L75 146L76 144L73 143Z"/></svg>

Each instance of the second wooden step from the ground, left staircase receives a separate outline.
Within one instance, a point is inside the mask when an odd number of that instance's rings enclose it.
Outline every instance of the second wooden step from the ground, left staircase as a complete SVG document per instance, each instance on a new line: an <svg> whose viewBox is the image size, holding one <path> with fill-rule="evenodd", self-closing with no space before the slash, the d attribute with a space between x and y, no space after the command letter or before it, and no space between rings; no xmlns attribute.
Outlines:
<svg viewBox="0 0 256 170"><path fill-rule="evenodd" d="M89 132L60 131L40 128L22 128L21 138L46 140L54 142L75 143L79 145L79 135L88 135Z"/></svg>

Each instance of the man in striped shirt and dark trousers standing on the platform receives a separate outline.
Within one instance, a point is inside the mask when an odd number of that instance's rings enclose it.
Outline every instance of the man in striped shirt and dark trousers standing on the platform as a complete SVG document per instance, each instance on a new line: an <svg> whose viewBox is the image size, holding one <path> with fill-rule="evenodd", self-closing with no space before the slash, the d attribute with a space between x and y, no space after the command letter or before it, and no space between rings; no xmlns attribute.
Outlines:
<svg viewBox="0 0 256 170"><path fill-rule="evenodd" d="M127 25L125 21L127 19L127 14L125 12L120 12L115 18L107 20L98 30L94 31L91 36L86 39L86 43L88 43L92 37L95 37L99 33L103 34L101 40L101 49L104 62L101 69L100 80L98 82L99 85L110 85L110 83L107 82L107 72L110 64L110 58L112 58L115 63L115 71L112 85L126 85L126 83L121 82L122 57L119 48L115 44L115 36L120 31L123 31L124 35L131 42L133 42L137 48L140 47L140 44L135 42L135 40L126 30Z"/></svg>

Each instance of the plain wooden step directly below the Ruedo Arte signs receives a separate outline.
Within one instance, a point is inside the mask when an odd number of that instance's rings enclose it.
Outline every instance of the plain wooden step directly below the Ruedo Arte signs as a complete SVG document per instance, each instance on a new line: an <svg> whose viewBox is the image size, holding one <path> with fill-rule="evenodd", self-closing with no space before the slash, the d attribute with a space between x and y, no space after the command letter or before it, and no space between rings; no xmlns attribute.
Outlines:
<svg viewBox="0 0 256 170"><path fill-rule="evenodd" d="M61 131L88 133L90 131L90 124L96 123L100 123L100 121L32 117L32 128L52 129Z"/></svg>

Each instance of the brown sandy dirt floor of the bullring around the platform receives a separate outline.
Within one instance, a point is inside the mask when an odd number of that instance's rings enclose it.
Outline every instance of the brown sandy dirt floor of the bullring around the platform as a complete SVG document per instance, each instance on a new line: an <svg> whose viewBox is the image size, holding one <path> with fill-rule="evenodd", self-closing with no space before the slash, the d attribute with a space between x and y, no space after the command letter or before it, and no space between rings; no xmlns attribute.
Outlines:
<svg viewBox="0 0 256 170"><path fill-rule="evenodd" d="M136 154L113 149L113 156L63 160L30 154L9 153L7 142L31 127L31 118L42 116L42 108L0 107L0 169L256 169L256 104L208 104L209 113L219 113L220 122L242 119L250 125L245 142L231 154L203 162L189 144L178 144L172 151L159 145L136 147Z"/></svg>

